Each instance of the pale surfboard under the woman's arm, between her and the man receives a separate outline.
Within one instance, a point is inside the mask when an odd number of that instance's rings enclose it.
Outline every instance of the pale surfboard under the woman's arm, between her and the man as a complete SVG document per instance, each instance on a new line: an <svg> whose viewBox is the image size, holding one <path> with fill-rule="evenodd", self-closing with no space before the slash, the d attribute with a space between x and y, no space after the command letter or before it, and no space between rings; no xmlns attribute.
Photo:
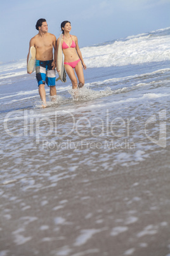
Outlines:
<svg viewBox="0 0 170 256"><path fill-rule="evenodd" d="M63 83L65 83L67 82L66 80L67 75L65 72L64 64L63 64L62 37L63 37L63 34L60 35L59 45L58 45L56 63L57 63L58 70L60 71L58 72L58 78L56 79L56 81L61 80Z"/></svg>

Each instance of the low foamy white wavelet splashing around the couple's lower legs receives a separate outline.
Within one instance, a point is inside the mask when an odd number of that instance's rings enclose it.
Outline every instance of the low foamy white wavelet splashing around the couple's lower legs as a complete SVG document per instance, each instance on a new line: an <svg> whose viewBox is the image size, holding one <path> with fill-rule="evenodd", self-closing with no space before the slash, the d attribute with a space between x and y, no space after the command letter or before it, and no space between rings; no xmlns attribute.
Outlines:
<svg viewBox="0 0 170 256"><path fill-rule="evenodd" d="M129 92L131 90L136 90L139 87L150 87L152 86L152 84L155 85L155 82L151 81L151 82L140 82L143 80L143 77L146 78L146 76L148 76L148 79L150 77L152 77L155 74L164 74L170 71L170 68L166 68L166 69L158 69L156 71L153 71L151 73L143 73L140 75L134 75L134 76L124 76L124 77L120 77L120 78L109 78L107 80L103 80L103 81L96 81L96 82L92 82L92 83L86 83L85 86L79 90L79 97L78 99L75 99L76 101L90 101L90 100L94 100L94 99L99 99L101 97L107 97L110 96L112 94L121 94L121 93L126 93ZM134 78L138 78L136 80L136 84L133 83L133 85L131 85L130 87L121 87L121 88L116 88L116 89L110 89L110 86L113 85L113 83L116 83L117 85L119 84L119 82L122 84L124 82L126 82L127 80L133 80ZM167 80L165 80L164 82L168 82ZM163 83L163 82L161 82ZM105 85L105 90L92 90L91 87L95 87L98 85ZM49 102L48 102L48 106L58 106L61 104L67 104L67 103L72 103L74 101L74 92L72 90L71 85L68 85L66 87L58 87L57 88L57 92L69 92L69 94L72 96L70 98L65 98L62 96L57 95L55 101L51 101L50 97L49 97ZM18 93L13 93L13 94L1 94L0 99L11 99L9 102L3 103L2 104L11 104L13 102L19 102L19 101L25 101L26 99L32 99L32 98L36 98L38 97L38 89L36 90L28 90L28 91L20 91ZM157 96L155 96L155 94L153 94L154 97L160 97L160 95L157 94ZM26 96L26 97L22 97L22 96ZM17 97L17 99L16 99ZM151 94L145 94L143 97L152 97ZM12 99L14 98L14 99ZM40 108L41 107L41 103L36 103L36 107Z"/></svg>

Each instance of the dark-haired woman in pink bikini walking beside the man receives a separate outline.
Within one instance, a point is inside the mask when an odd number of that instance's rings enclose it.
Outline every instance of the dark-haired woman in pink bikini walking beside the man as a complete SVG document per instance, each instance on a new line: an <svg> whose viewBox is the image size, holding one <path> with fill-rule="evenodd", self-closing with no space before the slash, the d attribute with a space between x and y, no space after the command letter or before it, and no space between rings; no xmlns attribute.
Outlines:
<svg viewBox="0 0 170 256"><path fill-rule="evenodd" d="M62 50L64 55L64 67L67 75L72 82L72 89L77 89L77 78L79 80L78 88L84 85L84 74L83 69L86 69L86 65L82 59L81 51L79 49L78 41L76 36L70 35L72 29L71 24L68 20L65 20L61 24L62 29ZM57 63L57 53L58 45L60 43L60 38L56 41L56 63ZM74 73L77 74L77 78ZM56 70L59 72L58 67Z"/></svg>

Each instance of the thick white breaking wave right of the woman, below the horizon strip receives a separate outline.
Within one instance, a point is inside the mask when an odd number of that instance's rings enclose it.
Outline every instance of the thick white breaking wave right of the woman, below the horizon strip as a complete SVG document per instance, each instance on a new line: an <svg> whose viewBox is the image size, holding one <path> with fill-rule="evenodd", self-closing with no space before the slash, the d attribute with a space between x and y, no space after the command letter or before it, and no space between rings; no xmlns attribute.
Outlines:
<svg viewBox="0 0 170 256"><path fill-rule="evenodd" d="M81 49L88 68L126 66L170 60L170 36L131 38Z"/></svg>

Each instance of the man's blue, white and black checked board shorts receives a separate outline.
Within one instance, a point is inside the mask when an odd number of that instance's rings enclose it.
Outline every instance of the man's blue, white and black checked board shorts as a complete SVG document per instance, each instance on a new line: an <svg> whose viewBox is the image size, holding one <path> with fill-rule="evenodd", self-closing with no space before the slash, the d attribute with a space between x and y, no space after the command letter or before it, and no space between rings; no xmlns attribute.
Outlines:
<svg viewBox="0 0 170 256"><path fill-rule="evenodd" d="M53 60L36 60L36 78L38 86L47 84L55 86L55 69L52 69Z"/></svg>

